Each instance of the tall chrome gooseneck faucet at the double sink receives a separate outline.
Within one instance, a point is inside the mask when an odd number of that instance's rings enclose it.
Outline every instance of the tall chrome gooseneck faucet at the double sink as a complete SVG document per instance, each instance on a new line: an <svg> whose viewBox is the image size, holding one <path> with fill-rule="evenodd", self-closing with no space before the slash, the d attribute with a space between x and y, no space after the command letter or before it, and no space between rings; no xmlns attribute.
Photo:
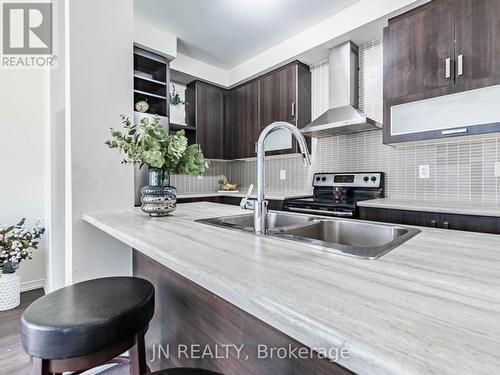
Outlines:
<svg viewBox="0 0 500 375"><path fill-rule="evenodd" d="M266 126L260 133L259 140L257 141L257 199L253 204L248 204L249 198L243 198L241 202L242 208L252 209L254 211L254 230L257 235L267 234L267 201L265 200L266 189L266 169L265 169L265 151L264 141L266 137L275 130L283 129L288 130L296 139L299 144L300 152L305 165L311 165L311 157L307 143L299 128L288 122L273 122ZM249 194L248 194L249 195Z"/></svg>

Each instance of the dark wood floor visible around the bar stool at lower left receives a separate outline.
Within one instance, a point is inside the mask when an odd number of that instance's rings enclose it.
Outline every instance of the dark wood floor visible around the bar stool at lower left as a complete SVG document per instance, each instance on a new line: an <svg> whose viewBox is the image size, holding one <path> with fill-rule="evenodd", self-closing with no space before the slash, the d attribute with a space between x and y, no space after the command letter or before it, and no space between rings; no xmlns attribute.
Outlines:
<svg viewBox="0 0 500 375"><path fill-rule="evenodd" d="M42 289L21 293L21 304L18 307L0 312L0 374L30 375L30 360L24 353L19 335L21 315L31 302L42 295ZM99 372L99 375L128 374L128 365L118 365Z"/></svg>

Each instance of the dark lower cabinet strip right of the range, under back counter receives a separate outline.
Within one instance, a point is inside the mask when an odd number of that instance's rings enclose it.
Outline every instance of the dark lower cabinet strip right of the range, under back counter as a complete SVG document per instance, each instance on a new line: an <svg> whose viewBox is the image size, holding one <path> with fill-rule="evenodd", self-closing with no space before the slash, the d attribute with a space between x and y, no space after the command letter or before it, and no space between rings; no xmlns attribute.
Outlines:
<svg viewBox="0 0 500 375"><path fill-rule="evenodd" d="M500 217L360 207L362 220L500 234Z"/></svg>

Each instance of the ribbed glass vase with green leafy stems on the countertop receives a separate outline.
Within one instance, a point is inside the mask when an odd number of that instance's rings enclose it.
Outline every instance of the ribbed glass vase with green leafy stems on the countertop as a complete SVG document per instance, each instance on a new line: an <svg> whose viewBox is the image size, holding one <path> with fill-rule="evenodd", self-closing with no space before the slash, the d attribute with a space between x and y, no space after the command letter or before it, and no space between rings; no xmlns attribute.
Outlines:
<svg viewBox="0 0 500 375"><path fill-rule="evenodd" d="M148 166L149 185L141 189L142 210L150 216L166 216L175 211L177 200L170 174L201 176L209 162L199 145L188 145L184 130L168 134L157 116L151 122L142 118L138 126L122 116L122 123L124 131L111 128L113 139L106 145L126 154L122 164Z"/></svg>

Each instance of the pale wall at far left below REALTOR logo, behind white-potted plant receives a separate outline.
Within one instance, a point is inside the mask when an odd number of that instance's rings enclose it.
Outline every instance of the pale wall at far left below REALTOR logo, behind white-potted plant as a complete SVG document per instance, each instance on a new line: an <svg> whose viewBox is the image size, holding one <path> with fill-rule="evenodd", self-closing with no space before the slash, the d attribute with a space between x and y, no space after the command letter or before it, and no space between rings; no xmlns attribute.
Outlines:
<svg viewBox="0 0 500 375"><path fill-rule="evenodd" d="M0 224L44 218L44 122L47 73L0 69ZM43 287L45 239L21 263L23 289Z"/></svg>

